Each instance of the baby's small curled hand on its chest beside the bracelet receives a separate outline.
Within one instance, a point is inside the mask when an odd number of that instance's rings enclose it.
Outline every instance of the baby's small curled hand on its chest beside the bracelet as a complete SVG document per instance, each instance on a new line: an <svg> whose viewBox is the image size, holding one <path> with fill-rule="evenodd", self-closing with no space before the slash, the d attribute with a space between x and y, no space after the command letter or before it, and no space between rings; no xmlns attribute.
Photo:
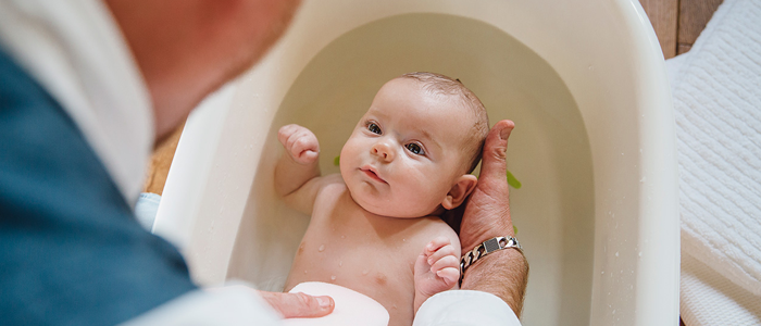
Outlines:
<svg viewBox="0 0 761 326"><path fill-rule="evenodd" d="M458 254L447 237L437 237L428 242L415 262L415 296L424 296L427 299L454 288L460 278ZM415 298L415 301L417 300L419 298Z"/></svg>

